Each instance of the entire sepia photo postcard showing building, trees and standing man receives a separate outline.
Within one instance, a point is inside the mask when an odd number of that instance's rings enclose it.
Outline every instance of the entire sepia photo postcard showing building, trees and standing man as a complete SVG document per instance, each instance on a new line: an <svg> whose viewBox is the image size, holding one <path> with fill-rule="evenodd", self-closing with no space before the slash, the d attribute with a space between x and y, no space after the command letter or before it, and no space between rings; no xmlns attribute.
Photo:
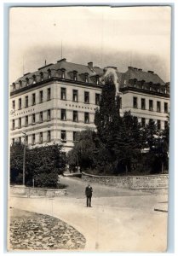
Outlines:
<svg viewBox="0 0 178 256"><path fill-rule="evenodd" d="M167 250L170 6L9 9L8 250Z"/></svg>

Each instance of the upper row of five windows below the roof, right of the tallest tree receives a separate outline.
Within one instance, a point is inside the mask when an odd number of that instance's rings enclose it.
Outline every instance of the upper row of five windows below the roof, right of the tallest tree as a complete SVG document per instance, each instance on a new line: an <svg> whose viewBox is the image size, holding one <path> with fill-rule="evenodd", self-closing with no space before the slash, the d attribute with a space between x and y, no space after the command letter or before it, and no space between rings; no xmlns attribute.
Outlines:
<svg viewBox="0 0 178 256"><path fill-rule="evenodd" d="M133 108L138 108L138 98L133 97ZM141 109L146 109L146 99L141 98ZM153 101L149 100L150 111L153 111ZM161 102L157 102L157 112L161 112ZM168 102L164 102L164 113L168 113Z"/></svg>

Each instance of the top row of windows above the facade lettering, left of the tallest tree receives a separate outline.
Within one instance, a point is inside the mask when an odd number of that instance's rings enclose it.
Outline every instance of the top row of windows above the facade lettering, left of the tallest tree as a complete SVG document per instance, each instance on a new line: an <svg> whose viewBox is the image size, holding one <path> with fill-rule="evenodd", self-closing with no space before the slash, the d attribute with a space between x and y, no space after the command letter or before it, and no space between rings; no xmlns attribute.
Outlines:
<svg viewBox="0 0 178 256"><path fill-rule="evenodd" d="M73 90L72 91L72 101L73 102L78 102L78 90ZM51 90L50 88L47 89L47 101L49 101L51 99ZM60 90L60 99L61 100L65 100L66 101L66 88L61 88ZM43 102L43 90L39 91L39 103ZM89 91L84 91L84 103L88 103L89 104ZM22 108L22 100L21 98L19 99L18 102L19 106L18 109ZM100 104L100 94L96 93L95 94L95 105L99 105ZM32 94L32 106L36 105L36 93ZM25 97L25 108L29 107L29 97L26 96ZM15 100L12 101L12 108L15 109Z"/></svg>

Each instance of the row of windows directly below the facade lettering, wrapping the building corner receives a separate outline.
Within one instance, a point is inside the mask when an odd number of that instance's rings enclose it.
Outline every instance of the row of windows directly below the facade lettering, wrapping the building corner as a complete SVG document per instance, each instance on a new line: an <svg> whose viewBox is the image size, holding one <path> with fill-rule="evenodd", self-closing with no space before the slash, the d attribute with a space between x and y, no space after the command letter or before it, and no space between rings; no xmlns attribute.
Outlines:
<svg viewBox="0 0 178 256"><path fill-rule="evenodd" d="M50 109L47 110L47 121L51 119L51 111ZM65 121L66 120L66 109L61 109L60 112L60 119ZM73 117L72 117L73 122L78 122L78 111L73 111ZM18 128L21 128L21 118L18 119L19 125ZM43 111L39 113L39 122L43 122ZM32 113L32 125L35 125L36 123L36 114ZM89 124L89 113L84 112L84 123ZM25 116L25 126L29 125L29 116ZM15 129L15 121L14 119L12 120L12 129Z"/></svg>

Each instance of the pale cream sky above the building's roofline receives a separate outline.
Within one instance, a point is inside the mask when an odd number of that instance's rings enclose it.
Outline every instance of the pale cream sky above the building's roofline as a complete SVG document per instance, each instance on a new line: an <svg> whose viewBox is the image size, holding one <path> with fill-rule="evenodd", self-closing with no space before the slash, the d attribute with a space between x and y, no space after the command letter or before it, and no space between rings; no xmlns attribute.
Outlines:
<svg viewBox="0 0 178 256"><path fill-rule="evenodd" d="M9 84L61 58L96 67L170 73L169 7L11 8Z"/></svg>

